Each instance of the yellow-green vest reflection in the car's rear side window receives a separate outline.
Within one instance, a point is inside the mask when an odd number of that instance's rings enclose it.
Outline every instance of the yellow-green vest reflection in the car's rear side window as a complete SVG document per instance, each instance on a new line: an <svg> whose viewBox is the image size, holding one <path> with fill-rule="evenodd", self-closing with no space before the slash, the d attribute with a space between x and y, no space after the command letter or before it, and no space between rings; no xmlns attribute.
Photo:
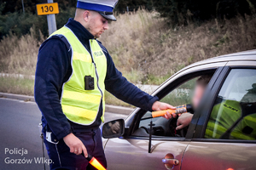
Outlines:
<svg viewBox="0 0 256 170"><path fill-rule="evenodd" d="M255 111L256 113L256 111ZM241 106L236 100L227 99L215 105L207 124L205 138L219 139L241 117ZM252 132L243 133L245 127L252 128ZM256 114L243 117L230 133L230 139L256 139Z"/></svg>

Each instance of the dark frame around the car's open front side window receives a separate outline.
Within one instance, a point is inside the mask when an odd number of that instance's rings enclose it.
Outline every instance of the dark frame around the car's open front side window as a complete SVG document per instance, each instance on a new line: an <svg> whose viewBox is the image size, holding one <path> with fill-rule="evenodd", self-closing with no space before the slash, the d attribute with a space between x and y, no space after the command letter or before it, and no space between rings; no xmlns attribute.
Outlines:
<svg viewBox="0 0 256 170"><path fill-rule="evenodd" d="M224 66L217 66L217 67L212 67L212 68L206 68L206 69L200 69L200 70L196 70L196 71L190 71L180 77L177 77L177 79L173 80L172 82L170 82L168 84L168 86L166 86L165 88L163 88L162 90L160 90L159 93L155 94L155 96L159 97L159 99L163 99L167 94L171 93L172 90L174 90L175 88L179 87L181 84L183 84L183 82L187 82L195 77L199 77L202 75L202 71L204 71L204 74L207 73L213 73L212 79L208 84L208 87L212 87L214 82L217 81L219 74L221 73L221 71L223 70ZM178 76L178 75L177 75ZM190 77L190 78L189 78ZM172 87L172 88L170 88ZM139 122L141 120L141 118L143 117L143 115L146 113L147 111L144 111L142 109L140 109L139 111L137 111L136 116L134 117L133 122L131 123L130 128L130 134L129 135L125 135L125 138L129 138L129 139L148 139L148 137L140 137L140 136L133 136L132 133L135 132L135 130L137 130L138 126L139 126ZM194 115L196 114L196 111L194 113ZM190 128L190 126L189 126ZM194 128L194 127L191 127ZM126 131L128 131L128 129L126 129ZM191 130L190 130L191 131ZM128 132L127 132L128 133ZM126 133L126 134L127 134ZM189 133L189 130L188 130ZM189 137L189 135L186 135L186 137L165 137L165 136L157 136L157 137L152 137L152 140L168 140L168 141L183 141L183 140L189 140L191 138L187 138L187 136ZM191 135L190 135L191 136Z"/></svg>

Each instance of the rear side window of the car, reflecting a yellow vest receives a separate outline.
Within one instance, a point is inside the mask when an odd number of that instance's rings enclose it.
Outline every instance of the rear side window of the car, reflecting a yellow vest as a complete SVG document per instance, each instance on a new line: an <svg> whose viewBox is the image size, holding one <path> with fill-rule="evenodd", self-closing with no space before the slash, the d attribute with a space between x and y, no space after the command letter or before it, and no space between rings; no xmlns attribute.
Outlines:
<svg viewBox="0 0 256 170"><path fill-rule="evenodd" d="M205 138L255 140L256 70L230 71L212 107Z"/></svg>

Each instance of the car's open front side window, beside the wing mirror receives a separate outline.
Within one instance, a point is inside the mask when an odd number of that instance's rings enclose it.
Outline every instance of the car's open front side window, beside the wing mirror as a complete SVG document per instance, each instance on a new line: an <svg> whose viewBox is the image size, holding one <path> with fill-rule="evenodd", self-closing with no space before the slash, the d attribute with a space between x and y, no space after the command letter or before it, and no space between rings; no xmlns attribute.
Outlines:
<svg viewBox="0 0 256 170"><path fill-rule="evenodd" d="M195 81L198 77L195 77L187 82L183 82L182 85L178 86L172 92L166 95L161 102L168 103L173 106L186 105L191 103L191 98L193 90L195 87ZM164 117L148 118L151 116L151 112L147 112L141 119L139 128L133 134L136 136L147 136L149 132L148 124L152 120L154 123L154 136L167 136L167 137L181 137L184 136L177 132L175 128L177 127L177 119L166 120ZM146 132L146 133L145 133Z"/></svg>

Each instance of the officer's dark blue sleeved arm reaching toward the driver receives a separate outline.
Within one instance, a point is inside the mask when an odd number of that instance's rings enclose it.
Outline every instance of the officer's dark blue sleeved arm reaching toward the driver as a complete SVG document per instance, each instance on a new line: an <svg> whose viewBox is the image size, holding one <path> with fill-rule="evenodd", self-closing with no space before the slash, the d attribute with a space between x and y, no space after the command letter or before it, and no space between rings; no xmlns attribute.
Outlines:
<svg viewBox="0 0 256 170"><path fill-rule="evenodd" d="M106 90L118 99L131 105L135 105L146 111L152 111L152 105L158 98L143 92L134 84L128 82L127 79L122 76L122 73L116 69L113 64L113 59L108 54L106 48L102 47L102 50L108 60L108 71L105 79Z"/></svg>

